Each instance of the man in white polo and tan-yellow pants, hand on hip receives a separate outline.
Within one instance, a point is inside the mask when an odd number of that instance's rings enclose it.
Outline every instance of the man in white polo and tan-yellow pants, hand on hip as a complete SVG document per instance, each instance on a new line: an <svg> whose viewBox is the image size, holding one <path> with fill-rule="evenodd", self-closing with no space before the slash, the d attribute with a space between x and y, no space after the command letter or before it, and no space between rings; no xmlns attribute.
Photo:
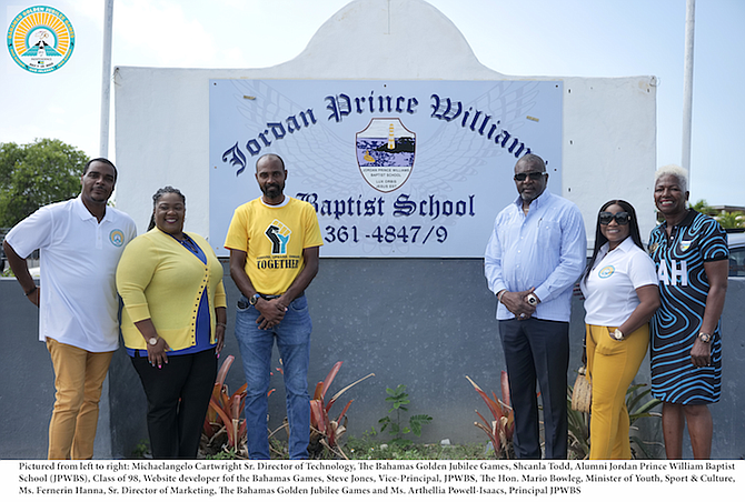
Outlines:
<svg viewBox="0 0 745 502"><path fill-rule="evenodd" d="M54 368L49 460L93 456L101 388L119 347L115 273L137 234L131 218L107 207L117 181L109 160L88 162L80 181L78 198L40 208L2 244L23 293L39 307L39 340ZM37 249L39 288L26 262Z"/></svg>

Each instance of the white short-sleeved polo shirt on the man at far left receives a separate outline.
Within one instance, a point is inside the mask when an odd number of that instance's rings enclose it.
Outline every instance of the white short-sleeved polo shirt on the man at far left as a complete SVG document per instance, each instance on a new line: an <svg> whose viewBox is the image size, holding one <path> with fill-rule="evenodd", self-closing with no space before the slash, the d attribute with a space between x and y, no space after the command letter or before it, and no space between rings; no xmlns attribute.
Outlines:
<svg viewBox="0 0 745 502"><path fill-rule="evenodd" d="M89 352L119 347L119 297L115 284L135 221L106 208L99 223L80 197L40 208L6 240L20 257L39 250L39 340L47 338Z"/></svg>

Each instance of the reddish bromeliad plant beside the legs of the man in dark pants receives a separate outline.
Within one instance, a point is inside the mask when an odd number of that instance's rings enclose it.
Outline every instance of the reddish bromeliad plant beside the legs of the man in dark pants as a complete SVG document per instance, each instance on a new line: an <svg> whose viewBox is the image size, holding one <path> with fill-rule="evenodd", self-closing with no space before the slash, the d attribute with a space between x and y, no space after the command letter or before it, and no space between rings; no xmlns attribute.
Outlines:
<svg viewBox="0 0 745 502"><path fill-rule="evenodd" d="M481 396L491 412L491 416L494 416L494 420L489 422L477 410L476 414L484 423L474 422L474 425L486 432L486 435L489 436L489 441L494 446L494 454L497 459L509 459L513 451L513 434L515 433L515 413L509 401L509 379L507 372L501 372L501 400L497 399L494 392L491 392L491 398L489 398L469 376L466 376L466 379L474 385L474 389L476 389L476 392L478 392L478 395Z"/></svg>

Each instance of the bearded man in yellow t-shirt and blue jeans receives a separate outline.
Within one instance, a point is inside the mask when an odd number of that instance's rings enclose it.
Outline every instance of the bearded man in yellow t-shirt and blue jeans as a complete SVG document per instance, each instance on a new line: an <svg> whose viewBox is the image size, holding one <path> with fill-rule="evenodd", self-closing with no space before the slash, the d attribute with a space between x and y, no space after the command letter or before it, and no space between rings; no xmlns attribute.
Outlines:
<svg viewBox="0 0 745 502"><path fill-rule="evenodd" d="M225 247L230 275L242 293L236 339L248 382L246 424L250 459L269 459L267 412L271 349L282 360L290 425L290 459L308 458L311 322L305 290L318 272L324 244L315 209L284 193L287 170L279 155L256 162L262 197L236 209Z"/></svg>

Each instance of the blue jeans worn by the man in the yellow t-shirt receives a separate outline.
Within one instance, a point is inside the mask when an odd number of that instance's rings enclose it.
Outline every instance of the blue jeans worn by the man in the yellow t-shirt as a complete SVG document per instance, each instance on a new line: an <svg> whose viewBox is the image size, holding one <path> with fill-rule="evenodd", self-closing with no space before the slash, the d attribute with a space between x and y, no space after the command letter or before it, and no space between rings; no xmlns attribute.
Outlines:
<svg viewBox="0 0 745 502"><path fill-rule="evenodd" d="M248 304L241 297L239 304ZM295 299L276 327L260 330L256 320L259 311L248 305L236 312L236 339L244 361L248 383L246 395L246 429L249 459L269 459L267 414L271 349L277 349L282 360L287 419L290 425L290 459L308 458L310 435L310 396L308 395L308 364L310 363L310 331L312 324L305 295Z"/></svg>

